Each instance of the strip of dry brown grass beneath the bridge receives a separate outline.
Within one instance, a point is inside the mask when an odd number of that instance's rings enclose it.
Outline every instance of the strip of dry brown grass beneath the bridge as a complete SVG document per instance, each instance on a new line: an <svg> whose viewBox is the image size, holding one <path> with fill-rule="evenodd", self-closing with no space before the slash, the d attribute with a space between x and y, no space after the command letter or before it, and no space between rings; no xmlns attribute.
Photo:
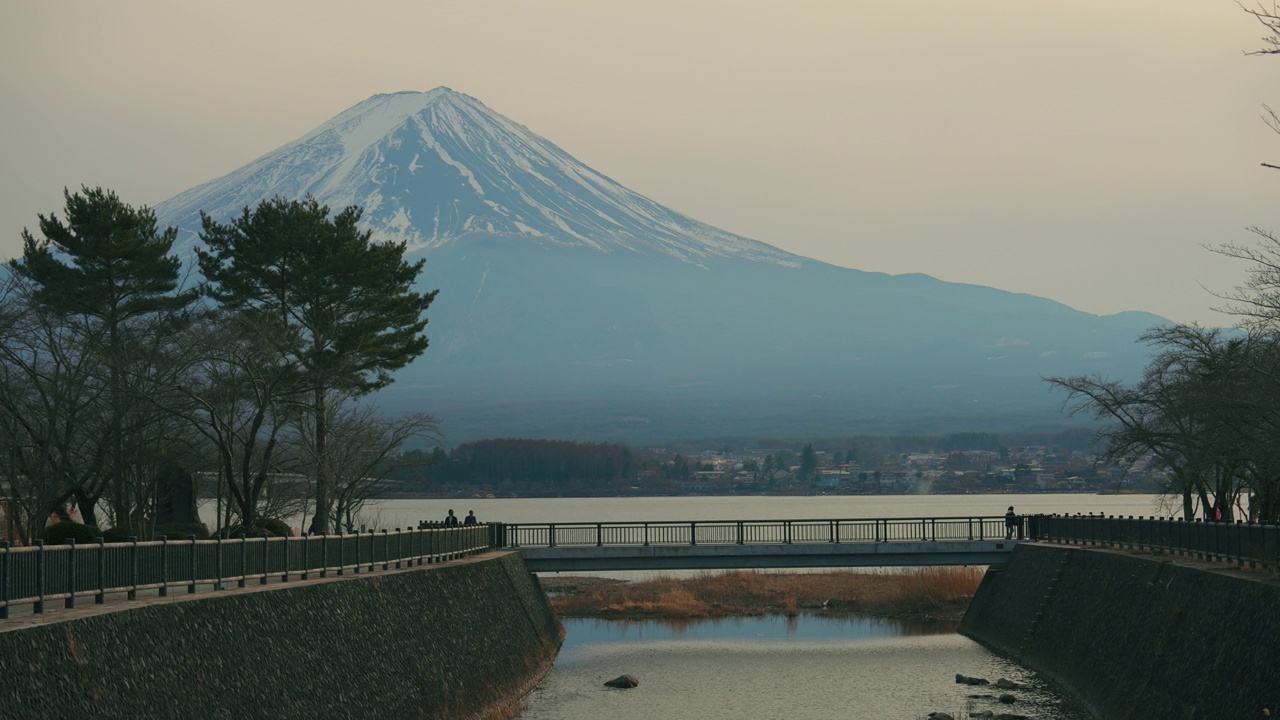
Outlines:
<svg viewBox="0 0 1280 720"><path fill-rule="evenodd" d="M977 568L915 568L855 573L754 573L600 583L545 580L552 607L566 618L723 618L730 615L881 615L959 618L982 582Z"/></svg>

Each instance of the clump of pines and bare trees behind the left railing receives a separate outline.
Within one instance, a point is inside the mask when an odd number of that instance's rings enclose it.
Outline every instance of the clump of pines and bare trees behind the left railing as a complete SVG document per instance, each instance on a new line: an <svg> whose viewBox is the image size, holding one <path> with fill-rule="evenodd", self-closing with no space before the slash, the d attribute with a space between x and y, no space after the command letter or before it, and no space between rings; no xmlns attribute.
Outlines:
<svg viewBox="0 0 1280 720"><path fill-rule="evenodd" d="M0 495L18 534L74 507L146 536L175 471L216 477L244 528L298 510L269 492L287 475L307 478L321 530L349 524L398 448L436 433L362 400L426 348L435 293L360 215L310 197L202 215L187 270L177 231L114 192L40 215L0 284Z"/></svg>

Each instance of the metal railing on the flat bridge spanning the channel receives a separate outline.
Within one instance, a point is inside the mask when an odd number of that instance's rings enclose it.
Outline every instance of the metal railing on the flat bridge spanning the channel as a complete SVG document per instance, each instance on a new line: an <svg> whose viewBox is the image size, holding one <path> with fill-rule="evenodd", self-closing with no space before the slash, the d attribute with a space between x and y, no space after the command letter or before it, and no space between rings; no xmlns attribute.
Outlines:
<svg viewBox="0 0 1280 720"><path fill-rule="evenodd" d="M507 547L644 547L987 541L1005 518L694 520L508 524Z"/></svg>

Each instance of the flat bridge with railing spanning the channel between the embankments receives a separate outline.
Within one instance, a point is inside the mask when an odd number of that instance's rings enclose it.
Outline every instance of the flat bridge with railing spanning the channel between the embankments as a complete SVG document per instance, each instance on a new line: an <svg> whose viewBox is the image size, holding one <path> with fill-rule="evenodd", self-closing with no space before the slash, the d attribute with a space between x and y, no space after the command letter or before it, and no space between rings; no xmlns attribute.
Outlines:
<svg viewBox="0 0 1280 720"><path fill-rule="evenodd" d="M508 523L504 544L534 573L572 573L1001 565L1018 541L983 516Z"/></svg>

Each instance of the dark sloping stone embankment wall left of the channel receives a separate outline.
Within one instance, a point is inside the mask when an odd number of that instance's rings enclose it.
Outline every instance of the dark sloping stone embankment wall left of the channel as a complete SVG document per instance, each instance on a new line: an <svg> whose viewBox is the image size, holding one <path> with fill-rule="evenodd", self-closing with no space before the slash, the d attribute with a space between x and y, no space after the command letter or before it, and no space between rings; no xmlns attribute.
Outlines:
<svg viewBox="0 0 1280 720"><path fill-rule="evenodd" d="M0 630L8 720L495 717L563 639L511 552Z"/></svg>

